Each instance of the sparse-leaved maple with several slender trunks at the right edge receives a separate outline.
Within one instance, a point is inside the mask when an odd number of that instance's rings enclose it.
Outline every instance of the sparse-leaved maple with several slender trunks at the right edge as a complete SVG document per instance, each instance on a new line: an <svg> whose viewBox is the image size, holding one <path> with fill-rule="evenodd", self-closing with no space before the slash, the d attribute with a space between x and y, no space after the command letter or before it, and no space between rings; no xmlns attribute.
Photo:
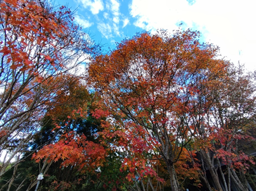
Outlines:
<svg viewBox="0 0 256 191"><path fill-rule="evenodd" d="M255 141L254 75L245 74L241 66L230 67L226 79L205 90L205 94L211 95L205 101L212 100L213 104L201 116L195 134L195 149L202 161L202 179L212 190L206 178L205 169L208 168L217 190L231 190L231 181L239 190L248 190L244 174L255 164L245 153L246 144ZM224 166L227 169L222 169Z"/></svg>

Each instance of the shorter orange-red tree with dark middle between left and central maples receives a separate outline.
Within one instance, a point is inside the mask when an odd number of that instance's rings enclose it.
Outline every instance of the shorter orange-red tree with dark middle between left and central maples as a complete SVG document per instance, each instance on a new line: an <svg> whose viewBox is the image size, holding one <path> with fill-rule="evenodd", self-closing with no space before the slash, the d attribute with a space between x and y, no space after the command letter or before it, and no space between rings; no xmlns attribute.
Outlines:
<svg viewBox="0 0 256 191"><path fill-rule="evenodd" d="M99 121L102 119L96 120L91 116L95 109L93 102L98 102L99 97L89 94L81 78L74 82L66 84L69 87L68 94L58 96L54 101L57 105L48 109L41 121L42 131L48 130L48 134L37 133L35 144L44 136L46 145L32 157L39 166L43 162L44 166L50 167L42 168L41 173L51 175L52 178L46 179L46 183L56 190L69 190L71 185L76 188L83 182L91 182L86 185L88 189L94 183L100 184L102 179L99 172L107 163L105 157L109 154L104 145L99 144L98 136L95 136L100 130ZM97 176L97 180L91 180L92 176ZM74 181L77 178L79 181ZM29 188L36 183L34 178Z"/></svg>

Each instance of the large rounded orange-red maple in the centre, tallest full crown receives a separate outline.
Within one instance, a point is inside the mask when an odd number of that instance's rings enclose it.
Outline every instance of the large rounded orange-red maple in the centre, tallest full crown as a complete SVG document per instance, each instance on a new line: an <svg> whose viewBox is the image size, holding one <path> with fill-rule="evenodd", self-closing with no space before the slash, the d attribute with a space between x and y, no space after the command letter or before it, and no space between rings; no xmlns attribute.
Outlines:
<svg viewBox="0 0 256 191"><path fill-rule="evenodd" d="M123 139L116 146L132 153L125 165L131 172L144 167L140 171L144 176L145 168L151 169L145 154L159 154L172 190L180 190L174 164L196 133L192 120L200 116L198 108L206 110L212 104L201 102L206 99L201 90L218 82L229 66L215 58L217 47L200 44L198 37L191 30L140 34L124 40L110 54L97 56L88 71L88 81L109 107L98 109L95 116L107 115L111 122L105 131L116 133ZM128 146L123 144L127 137Z"/></svg>

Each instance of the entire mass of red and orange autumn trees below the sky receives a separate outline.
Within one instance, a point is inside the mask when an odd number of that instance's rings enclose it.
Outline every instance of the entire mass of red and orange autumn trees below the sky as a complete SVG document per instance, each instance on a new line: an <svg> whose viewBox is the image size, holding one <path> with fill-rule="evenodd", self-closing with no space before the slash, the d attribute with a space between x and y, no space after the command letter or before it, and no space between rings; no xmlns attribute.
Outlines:
<svg viewBox="0 0 256 191"><path fill-rule="evenodd" d="M256 188L246 153L255 74L220 59L199 32L144 32L102 54L64 6L0 6L0 156L11 153L3 188L31 190L38 166L42 190ZM88 70L74 75L88 54ZM19 186L18 163L33 174Z"/></svg>

